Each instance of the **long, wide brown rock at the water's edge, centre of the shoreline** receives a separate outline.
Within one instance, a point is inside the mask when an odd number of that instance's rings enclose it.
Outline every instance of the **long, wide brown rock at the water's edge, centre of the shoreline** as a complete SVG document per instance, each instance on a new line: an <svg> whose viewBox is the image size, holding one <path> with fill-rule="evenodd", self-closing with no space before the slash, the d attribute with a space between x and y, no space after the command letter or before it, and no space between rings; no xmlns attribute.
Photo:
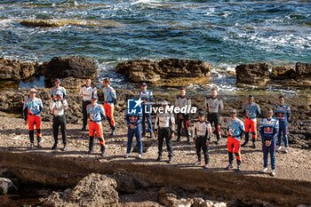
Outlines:
<svg viewBox="0 0 311 207"><path fill-rule="evenodd" d="M150 84L160 84L164 79L171 78L203 77L210 69L211 66L201 60L178 59L130 60L116 66L116 72L124 74L131 82Z"/></svg>

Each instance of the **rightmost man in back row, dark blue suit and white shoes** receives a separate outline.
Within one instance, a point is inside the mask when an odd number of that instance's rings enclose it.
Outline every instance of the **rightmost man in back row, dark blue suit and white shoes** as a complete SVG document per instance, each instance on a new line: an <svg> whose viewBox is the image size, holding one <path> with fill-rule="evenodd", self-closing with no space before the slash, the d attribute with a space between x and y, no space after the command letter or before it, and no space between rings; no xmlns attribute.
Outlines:
<svg viewBox="0 0 311 207"><path fill-rule="evenodd" d="M285 153L288 153L288 122L291 118L291 107L287 104L284 104L285 97L284 95L279 96L279 104L275 105L275 116L279 121L279 132L277 135L277 148L276 151L282 149L282 136L284 139Z"/></svg>

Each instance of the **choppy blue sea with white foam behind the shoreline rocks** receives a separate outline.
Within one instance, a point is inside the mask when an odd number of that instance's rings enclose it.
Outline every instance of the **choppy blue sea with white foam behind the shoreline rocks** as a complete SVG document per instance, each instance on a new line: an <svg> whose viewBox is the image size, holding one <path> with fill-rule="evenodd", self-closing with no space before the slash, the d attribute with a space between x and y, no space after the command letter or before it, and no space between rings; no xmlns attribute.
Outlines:
<svg viewBox="0 0 311 207"><path fill-rule="evenodd" d="M79 22L28 28L21 20ZM216 69L267 61L311 60L310 1L4 1L0 0L0 56L50 60L84 55L100 76L122 82L117 62L163 58L206 60ZM216 84L234 80L216 76Z"/></svg>

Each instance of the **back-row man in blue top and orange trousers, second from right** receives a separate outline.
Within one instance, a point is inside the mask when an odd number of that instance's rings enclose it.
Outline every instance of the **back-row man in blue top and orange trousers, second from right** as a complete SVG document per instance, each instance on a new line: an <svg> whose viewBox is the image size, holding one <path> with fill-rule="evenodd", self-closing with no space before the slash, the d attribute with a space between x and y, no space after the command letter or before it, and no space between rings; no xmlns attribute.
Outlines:
<svg viewBox="0 0 311 207"><path fill-rule="evenodd" d="M252 136L252 147L256 148L257 139L257 117L261 114L258 104L254 102L254 96L249 95L248 102L243 105L243 114L245 115L245 142L242 147L245 147Z"/></svg>

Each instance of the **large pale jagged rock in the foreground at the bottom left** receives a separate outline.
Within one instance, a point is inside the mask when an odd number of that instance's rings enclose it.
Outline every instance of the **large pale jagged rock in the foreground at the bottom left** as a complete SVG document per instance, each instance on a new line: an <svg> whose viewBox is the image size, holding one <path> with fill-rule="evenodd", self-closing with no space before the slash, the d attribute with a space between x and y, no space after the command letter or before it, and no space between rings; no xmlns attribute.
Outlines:
<svg viewBox="0 0 311 207"><path fill-rule="evenodd" d="M72 189L53 192L42 199L44 206L118 206L116 180L105 175L90 174Z"/></svg>

